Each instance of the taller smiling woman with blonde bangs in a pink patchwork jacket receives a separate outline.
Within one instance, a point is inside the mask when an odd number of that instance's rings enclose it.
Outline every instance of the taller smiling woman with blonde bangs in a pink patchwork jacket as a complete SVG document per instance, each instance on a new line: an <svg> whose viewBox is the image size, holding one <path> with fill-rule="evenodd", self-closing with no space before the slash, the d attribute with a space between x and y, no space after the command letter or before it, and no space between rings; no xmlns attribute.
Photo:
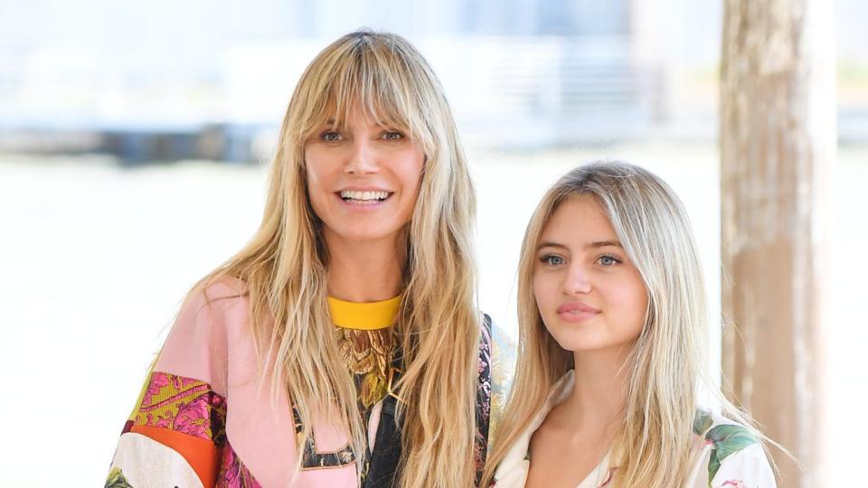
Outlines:
<svg viewBox="0 0 868 488"><path fill-rule="evenodd" d="M476 483L493 385L474 202L419 52L370 32L325 48L259 230L187 297L106 486Z"/></svg>

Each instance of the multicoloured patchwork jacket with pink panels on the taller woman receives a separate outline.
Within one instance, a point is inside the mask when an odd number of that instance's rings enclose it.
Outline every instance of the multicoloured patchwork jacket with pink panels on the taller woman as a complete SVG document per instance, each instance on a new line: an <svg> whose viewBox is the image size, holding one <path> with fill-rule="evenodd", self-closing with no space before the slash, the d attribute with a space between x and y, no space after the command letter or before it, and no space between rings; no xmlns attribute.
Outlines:
<svg viewBox="0 0 868 488"><path fill-rule="evenodd" d="M106 488L357 485L344 428L329 423L325 415L299 418L288 396L272 396L273 378L259 374L243 288L240 280L224 278L182 307L123 428ZM485 464L489 425L499 415L514 361L507 336L496 327L483 329L478 470ZM372 371L383 360L373 353L368 358L358 348L379 347L382 341L351 332L337 330L336 336L350 338L350 344L340 347L359 368L353 371L360 375L357 386L376 385ZM492 352L504 358L503 364L492 367ZM368 447L376 452L373 433L382 409L376 388L364 394L360 389L360 408L366 408ZM299 463L297 433L304 422L312 426L313 436Z"/></svg>

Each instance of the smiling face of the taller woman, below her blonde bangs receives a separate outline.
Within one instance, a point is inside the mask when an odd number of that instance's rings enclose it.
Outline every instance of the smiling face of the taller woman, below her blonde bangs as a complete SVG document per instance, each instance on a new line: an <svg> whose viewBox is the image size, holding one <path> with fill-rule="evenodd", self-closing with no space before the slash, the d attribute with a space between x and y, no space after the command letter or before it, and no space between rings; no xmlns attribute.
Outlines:
<svg viewBox="0 0 868 488"><path fill-rule="evenodd" d="M345 127L305 143L307 191L326 242L397 239L413 214L425 155L410 138L352 110Z"/></svg>

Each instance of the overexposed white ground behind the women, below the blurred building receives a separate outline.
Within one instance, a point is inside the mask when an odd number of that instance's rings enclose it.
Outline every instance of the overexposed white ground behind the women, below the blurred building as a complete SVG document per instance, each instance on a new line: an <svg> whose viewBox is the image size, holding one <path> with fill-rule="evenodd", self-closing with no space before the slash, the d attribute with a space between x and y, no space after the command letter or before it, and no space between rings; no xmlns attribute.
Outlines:
<svg viewBox="0 0 868 488"><path fill-rule="evenodd" d="M621 157L661 174L690 211L712 296L719 293L716 153L630 145L476 152L483 307L514 327L514 268L545 187L574 164ZM829 347L828 486L853 485L868 427L860 367L868 321L868 148L844 148L835 178ZM186 288L241 247L259 220L258 166L184 162L121 169L99 156L0 155L3 486L98 486ZM719 304L714 302L715 310ZM50 467L47 467L50 466ZM12 469L10 469L12 468Z"/></svg>

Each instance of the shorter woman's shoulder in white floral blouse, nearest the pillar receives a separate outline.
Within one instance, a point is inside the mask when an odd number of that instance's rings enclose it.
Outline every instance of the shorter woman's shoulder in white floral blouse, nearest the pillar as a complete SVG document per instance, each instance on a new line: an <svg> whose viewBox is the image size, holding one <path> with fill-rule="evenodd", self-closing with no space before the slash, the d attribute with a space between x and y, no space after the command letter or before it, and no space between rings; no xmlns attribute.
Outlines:
<svg viewBox="0 0 868 488"><path fill-rule="evenodd" d="M707 478L701 477L710 486L776 486L760 438L749 427L708 410L698 410L693 433L702 438L709 451Z"/></svg>

